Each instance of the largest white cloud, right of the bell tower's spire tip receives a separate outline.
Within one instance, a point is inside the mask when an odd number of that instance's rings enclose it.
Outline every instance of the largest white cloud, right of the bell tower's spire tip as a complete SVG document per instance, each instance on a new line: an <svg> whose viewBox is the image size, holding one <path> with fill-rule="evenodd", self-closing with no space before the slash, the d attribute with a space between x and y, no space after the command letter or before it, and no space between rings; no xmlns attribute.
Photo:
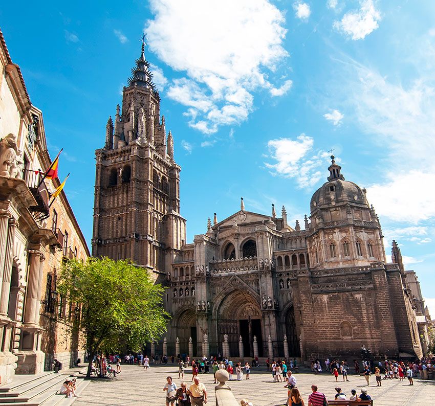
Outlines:
<svg viewBox="0 0 435 406"><path fill-rule="evenodd" d="M149 47L173 70L185 72L167 93L187 107L192 128L211 134L240 124L253 109L256 89L285 94L290 88L286 82L273 91L267 79L288 56L282 47L284 14L268 0L150 4L155 17L146 22Z"/></svg>

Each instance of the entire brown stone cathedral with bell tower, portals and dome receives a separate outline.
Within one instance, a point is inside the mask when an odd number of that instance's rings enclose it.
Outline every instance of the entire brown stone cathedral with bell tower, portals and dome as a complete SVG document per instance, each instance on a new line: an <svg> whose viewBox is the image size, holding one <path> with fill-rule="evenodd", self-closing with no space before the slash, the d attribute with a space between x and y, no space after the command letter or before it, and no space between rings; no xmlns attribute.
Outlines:
<svg viewBox="0 0 435 406"><path fill-rule="evenodd" d="M156 337L148 353L249 357L258 347L260 357L309 360L358 357L366 346L377 356L422 355L400 250L393 242L387 261L365 190L331 158L303 228L291 227L284 207L279 217L273 205L253 213L242 199L187 243L181 168L142 46L96 151L92 255L131 259L166 287L172 318L165 343Z"/></svg>

